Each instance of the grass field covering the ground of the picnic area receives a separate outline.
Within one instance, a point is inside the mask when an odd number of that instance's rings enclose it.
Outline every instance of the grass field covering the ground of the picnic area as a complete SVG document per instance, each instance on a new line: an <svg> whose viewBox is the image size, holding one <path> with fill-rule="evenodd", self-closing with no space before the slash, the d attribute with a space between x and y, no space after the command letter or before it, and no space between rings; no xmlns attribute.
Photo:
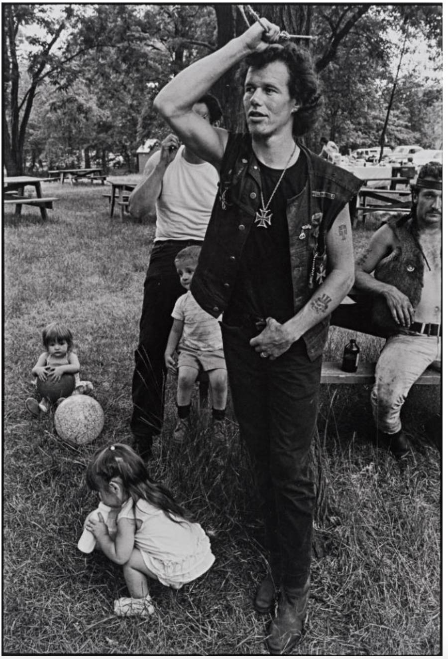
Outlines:
<svg viewBox="0 0 448 659"><path fill-rule="evenodd" d="M130 442L130 382L153 226L110 220L102 186L44 184L57 196L49 221L37 209L5 215L3 570L5 654L259 655L269 616L251 598L265 563L249 463L237 425L230 449L212 445L207 418L191 441L171 444L174 382L152 475L211 533L216 563L178 592L156 583L149 621L119 619L121 569L76 548L95 507L84 470L99 445ZM355 233L357 252L371 229ZM51 415L24 410L41 328L72 329L81 376L95 386L105 427L94 444L61 442ZM341 358L348 333L332 328L325 358ZM380 339L359 335L362 357ZM368 387L321 387L314 454L325 506L316 517L307 632L296 654L433 655L439 646L439 453L423 424L436 387L414 387L405 427L414 457L399 467L372 441ZM323 515L324 509L326 515Z"/></svg>

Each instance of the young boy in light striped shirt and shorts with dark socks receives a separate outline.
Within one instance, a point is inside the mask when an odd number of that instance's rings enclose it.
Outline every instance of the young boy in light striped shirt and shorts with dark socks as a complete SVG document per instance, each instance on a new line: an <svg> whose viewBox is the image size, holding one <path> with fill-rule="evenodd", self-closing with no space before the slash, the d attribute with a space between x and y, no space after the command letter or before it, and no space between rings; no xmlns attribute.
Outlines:
<svg viewBox="0 0 448 659"><path fill-rule="evenodd" d="M166 368L178 369L178 423L174 440L183 442L189 429L191 394L201 368L209 375L212 395L212 436L224 440L224 415L227 403L227 369L222 349L221 328L218 320L207 314L189 291L191 279L197 266L201 248L186 247L177 254L174 264L180 283L187 289L176 301L172 312L174 318L165 349ZM179 351L176 364L176 349Z"/></svg>

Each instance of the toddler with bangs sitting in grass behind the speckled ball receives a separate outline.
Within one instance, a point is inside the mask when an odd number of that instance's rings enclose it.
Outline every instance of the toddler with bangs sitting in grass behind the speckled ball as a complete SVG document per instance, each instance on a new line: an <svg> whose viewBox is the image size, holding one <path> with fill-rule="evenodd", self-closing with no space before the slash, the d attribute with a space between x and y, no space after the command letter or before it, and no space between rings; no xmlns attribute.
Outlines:
<svg viewBox="0 0 448 659"><path fill-rule="evenodd" d="M80 362L73 351L73 336L68 327L61 323L50 323L42 331L42 342L45 352L41 353L36 365L33 367L32 374L36 376L34 384L37 386L38 381L55 384L61 382L61 377L65 374L74 376L74 389L70 395L90 393L93 391L93 385L87 380L80 380ZM38 387L37 387L38 388ZM43 396L37 403L35 398L27 398L25 407L33 416L39 416L41 413L47 413L52 402L59 403L62 397L57 401Z"/></svg>

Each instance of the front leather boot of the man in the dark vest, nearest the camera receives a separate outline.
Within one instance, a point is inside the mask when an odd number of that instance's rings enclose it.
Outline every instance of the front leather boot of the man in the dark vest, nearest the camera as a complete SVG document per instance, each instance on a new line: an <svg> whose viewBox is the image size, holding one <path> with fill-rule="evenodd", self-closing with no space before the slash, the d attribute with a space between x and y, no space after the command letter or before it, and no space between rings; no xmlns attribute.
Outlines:
<svg viewBox="0 0 448 659"><path fill-rule="evenodd" d="M270 654L289 654L300 641L307 615L309 592L309 577L302 588L281 588L277 615L266 638Z"/></svg>

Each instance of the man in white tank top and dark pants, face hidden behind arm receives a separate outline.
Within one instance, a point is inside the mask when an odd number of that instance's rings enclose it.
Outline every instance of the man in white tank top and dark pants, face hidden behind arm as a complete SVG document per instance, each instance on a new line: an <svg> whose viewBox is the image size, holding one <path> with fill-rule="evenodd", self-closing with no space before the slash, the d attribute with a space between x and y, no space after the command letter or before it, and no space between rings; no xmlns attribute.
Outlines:
<svg viewBox="0 0 448 659"><path fill-rule="evenodd" d="M201 126L219 121L222 111L211 94L201 94L191 111ZM156 216L155 241L145 278L139 345L132 378L131 430L137 451L151 456L164 411L164 351L172 326L174 302L185 292L174 258L189 245L201 245L216 196L218 174L189 146L170 134L145 165L143 180L129 198L134 217Z"/></svg>

